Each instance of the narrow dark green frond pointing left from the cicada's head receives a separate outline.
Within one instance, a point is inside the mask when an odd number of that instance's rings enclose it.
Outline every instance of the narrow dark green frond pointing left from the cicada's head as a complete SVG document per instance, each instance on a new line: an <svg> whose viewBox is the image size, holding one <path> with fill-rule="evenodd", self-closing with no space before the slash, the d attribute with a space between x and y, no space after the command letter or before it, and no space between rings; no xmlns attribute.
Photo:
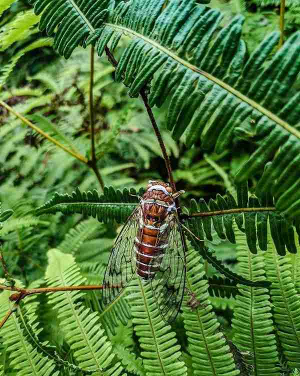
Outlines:
<svg viewBox="0 0 300 376"><path fill-rule="evenodd" d="M134 210L137 203L137 192L135 189L124 188L123 191L114 189L112 186L104 187L104 192L99 194L95 189L87 192L80 192L78 188L72 195L55 193L54 197L44 205L35 210L36 215L46 213L64 214L80 213L85 216L91 215L100 222L117 223L125 219Z"/></svg>

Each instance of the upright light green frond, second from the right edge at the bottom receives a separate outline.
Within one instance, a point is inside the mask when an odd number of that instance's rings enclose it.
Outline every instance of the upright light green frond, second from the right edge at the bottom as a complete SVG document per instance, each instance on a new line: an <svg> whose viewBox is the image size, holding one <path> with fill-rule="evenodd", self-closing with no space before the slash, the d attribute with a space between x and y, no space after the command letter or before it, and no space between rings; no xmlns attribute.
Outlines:
<svg viewBox="0 0 300 376"><path fill-rule="evenodd" d="M244 234L237 232L236 240L239 273L245 278L262 279L262 253L249 252ZM238 285L232 319L232 327L235 329L234 343L241 351L249 352L250 356L247 356L245 361L252 367L253 374L261 376L279 374L279 358L269 298L266 288Z"/></svg>

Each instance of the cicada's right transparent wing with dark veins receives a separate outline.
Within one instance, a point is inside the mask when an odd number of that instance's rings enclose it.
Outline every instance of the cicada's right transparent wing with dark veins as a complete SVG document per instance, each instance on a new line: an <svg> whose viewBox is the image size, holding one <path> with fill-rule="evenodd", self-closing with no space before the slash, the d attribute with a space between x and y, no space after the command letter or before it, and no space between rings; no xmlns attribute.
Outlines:
<svg viewBox="0 0 300 376"><path fill-rule="evenodd" d="M167 222L167 246L159 261L153 258L153 268L158 270L150 284L162 318L171 322L176 318L182 303L186 266L184 235L177 213L170 214Z"/></svg>

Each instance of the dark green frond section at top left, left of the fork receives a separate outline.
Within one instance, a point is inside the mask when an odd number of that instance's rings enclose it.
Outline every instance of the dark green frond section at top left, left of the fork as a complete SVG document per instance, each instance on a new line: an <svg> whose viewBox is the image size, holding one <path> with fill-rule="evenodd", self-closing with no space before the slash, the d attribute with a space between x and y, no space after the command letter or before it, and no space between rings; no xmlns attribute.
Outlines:
<svg viewBox="0 0 300 376"><path fill-rule="evenodd" d="M86 46L99 35L99 27L108 15L110 0L29 0L35 14L41 14L39 28L51 35L55 28L54 48L68 58L82 44Z"/></svg>

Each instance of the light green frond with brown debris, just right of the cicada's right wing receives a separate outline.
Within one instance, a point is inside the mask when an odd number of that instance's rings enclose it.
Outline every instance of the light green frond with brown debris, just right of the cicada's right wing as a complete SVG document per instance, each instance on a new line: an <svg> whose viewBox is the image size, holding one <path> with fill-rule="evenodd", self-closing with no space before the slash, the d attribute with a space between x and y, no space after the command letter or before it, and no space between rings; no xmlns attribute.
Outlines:
<svg viewBox="0 0 300 376"><path fill-rule="evenodd" d="M194 250L186 254L186 268L187 292L184 294L182 310L193 374L238 375L239 370L236 369L232 353L212 311L201 257ZM191 299L196 300L195 308L189 303Z"/></svg>

